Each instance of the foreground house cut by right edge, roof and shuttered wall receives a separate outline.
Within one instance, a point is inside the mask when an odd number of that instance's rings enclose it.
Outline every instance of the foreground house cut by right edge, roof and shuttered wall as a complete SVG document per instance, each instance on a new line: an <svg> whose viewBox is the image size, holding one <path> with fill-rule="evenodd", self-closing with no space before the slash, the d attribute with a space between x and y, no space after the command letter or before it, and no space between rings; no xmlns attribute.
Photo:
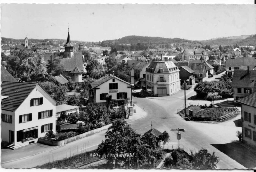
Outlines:
<svg viewBox="0 0 256 172"><path fill-rule="evenodd" d="M242 104L241 119L243 142L256 146L256 92L237 100L237 102Z"/></svg>

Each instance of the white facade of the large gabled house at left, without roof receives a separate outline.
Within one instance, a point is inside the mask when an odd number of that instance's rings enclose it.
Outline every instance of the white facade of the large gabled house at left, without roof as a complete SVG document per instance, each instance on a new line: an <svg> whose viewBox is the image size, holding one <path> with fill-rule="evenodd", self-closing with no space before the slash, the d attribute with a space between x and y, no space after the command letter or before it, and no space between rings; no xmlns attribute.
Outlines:
<svg viewBox="0 0 256 172"><path fill-rule="evenodd" d="M30 106L30 101L34 98L42 98L43 103ZM37 142L38 137L44 137L47 131L50 130L50 126L52 126L52 131L55 132L55 115L49 116L51 112L55 114L55 105L56 102L42 88L36 86L15 111L2 110L2 114L12 115L12 123L5 122L2 119L2 141L13 142L14 145L23 141L25 145L28 145L31 142ZM45 117L42 116L42 112ZM41 113L41 118L39 118L39 113ZM21 122L19 116L28 114L32 116L31 121L26 120L26 117L24 117ZM47 126L44 127L44 125ZM45 128L44 131L41 130L42 126ZM23 133L23 136L21 136L21 133Z"/></svg>

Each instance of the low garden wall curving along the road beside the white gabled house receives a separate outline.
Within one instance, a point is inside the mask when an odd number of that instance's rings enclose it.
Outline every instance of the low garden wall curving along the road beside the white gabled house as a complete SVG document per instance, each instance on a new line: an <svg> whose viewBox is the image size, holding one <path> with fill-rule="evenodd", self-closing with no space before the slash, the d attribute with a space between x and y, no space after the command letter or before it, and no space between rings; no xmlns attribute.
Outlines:
<svg viewBox="0 0 256 172"><path fill-rule="evenodd" d="M105 126L103 126L103 127L98 128L98 129L94 129L94 130L91 130L91 131L88 131L88 132L85 132L85 133L76 135L76 136L74 136L74 137L69 137L69 138L67 138L67 139L65 139L65 140L60 140L60 141L51 141L51 140L47 140L47 139L44 139L44 138L39 138L39 139L38 139L38 143L42 143L42 144L44 144L44 145L49 145L49 146L65 145L65 144L67 144L67 143L76 141L76 140L78 140L78 139L91 136L91 135L93 135L93 134L95 134L95 133L99 133L100 131L103 131L103 130L108 129L108 127L110 127L110 126L112 126L112 124L108 124L108 125L105 125Z"/></svg>

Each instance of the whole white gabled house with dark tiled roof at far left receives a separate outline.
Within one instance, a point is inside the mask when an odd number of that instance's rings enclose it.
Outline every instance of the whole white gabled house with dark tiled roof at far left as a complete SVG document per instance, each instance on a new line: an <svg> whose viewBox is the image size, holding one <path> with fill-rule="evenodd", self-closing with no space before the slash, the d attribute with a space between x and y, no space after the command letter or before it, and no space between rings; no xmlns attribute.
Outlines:
<svg viewBox="0 0 256 172"><path fill-rule="evenodd" d="M36 143L47 131L55 132L56 102L39 85L2 82L1 138L11 149Z"/></svg>

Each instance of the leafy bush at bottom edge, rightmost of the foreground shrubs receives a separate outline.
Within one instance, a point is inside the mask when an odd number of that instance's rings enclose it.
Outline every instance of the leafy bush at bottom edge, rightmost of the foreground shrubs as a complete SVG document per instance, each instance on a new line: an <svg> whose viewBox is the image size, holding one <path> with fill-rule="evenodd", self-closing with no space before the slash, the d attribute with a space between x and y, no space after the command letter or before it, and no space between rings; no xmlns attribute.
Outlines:
<svg viewBox="0 0 256 172"><path fill-rule="evenodd" d="M215 152L212 154L208 153L207 149L201 149L197 153L192 154L193 163L195 169L215 169L216 164L219 162Z"/></svg>

